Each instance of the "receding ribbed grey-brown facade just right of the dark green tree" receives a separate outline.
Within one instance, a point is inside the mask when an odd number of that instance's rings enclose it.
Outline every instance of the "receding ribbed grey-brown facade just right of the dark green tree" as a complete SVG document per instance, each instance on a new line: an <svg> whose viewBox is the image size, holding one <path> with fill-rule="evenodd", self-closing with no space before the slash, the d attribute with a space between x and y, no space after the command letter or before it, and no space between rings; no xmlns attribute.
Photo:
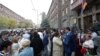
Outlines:
<svg viewBox="0 0 100 56"><path fill-rule="evenodd" d="M47 19L50 23L51 28L58 28L58 0L52 0L51 6L49 8ZM59 9L60 10L60 9Z"/></svg>

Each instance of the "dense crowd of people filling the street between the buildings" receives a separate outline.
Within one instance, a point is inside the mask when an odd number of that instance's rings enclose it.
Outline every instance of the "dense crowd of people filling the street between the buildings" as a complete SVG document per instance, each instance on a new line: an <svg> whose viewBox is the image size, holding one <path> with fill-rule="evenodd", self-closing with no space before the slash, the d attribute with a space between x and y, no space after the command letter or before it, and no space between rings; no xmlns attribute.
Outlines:
<svg viewBox="0 0 100 56"><path fill-rule="evenodd" d="M93 29L2 31L0 56L100 56L99 41Z"/></svg>

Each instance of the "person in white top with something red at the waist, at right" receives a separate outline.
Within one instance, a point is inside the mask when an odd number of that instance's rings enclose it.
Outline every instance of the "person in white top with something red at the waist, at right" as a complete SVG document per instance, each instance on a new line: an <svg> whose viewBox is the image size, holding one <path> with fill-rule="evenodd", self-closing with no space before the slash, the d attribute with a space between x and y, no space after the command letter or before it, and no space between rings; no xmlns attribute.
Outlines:
<svg viewBox="0 0 100 56"><path fill-rule="evenodd" d="M93 40L91 39L91 34L90 33L86 34L85 39L86 40L82 45L83 48L82 48L81 52L84 53L84 56L85 55L86 56L88 56L88 55L92 56L93 55L93 49L94 49L94 43L93 43Z"/></svg>

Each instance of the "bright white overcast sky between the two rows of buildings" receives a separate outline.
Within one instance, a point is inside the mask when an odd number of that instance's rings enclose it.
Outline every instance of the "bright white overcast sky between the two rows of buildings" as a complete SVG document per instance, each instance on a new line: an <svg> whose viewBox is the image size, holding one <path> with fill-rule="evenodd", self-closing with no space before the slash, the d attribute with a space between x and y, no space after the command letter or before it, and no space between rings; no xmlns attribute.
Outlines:
<svg viewBox="0 0 100 56"><path fill-rule="evenodd" d="M21 15L26 19L31 19L37 24L41 23L41 13L48 12L52 0L0 0L0 3Z"/></svg>

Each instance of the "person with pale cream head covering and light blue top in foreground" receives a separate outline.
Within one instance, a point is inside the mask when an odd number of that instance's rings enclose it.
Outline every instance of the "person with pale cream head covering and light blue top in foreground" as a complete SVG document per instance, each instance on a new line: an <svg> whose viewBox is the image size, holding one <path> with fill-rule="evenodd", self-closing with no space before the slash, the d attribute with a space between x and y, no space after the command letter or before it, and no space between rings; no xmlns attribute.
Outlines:
<svg viewBox="0 0 100 56"><path fill-rule="evenodd" d="M34 56L33 48L30 47L30 40L24 39L21 41L22 48L19 50L19 53L17 56Z"/></svg>

